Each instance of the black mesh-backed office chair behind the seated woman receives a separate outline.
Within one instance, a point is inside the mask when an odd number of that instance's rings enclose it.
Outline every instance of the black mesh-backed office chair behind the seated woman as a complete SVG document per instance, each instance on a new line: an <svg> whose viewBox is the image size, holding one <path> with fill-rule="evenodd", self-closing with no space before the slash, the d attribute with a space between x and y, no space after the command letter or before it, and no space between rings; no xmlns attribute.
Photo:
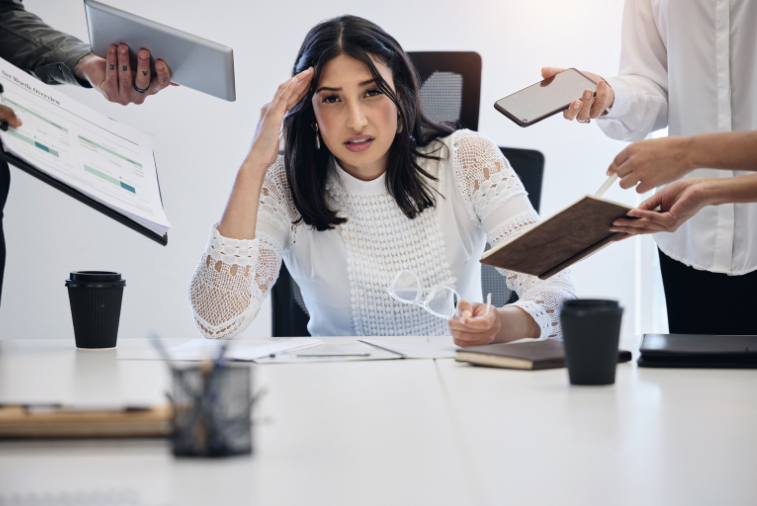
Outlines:
<svg viewBox="0 0 757 506"><path fill-rule="evenodd" d="M478 130L481 102L481 56L474 52L410 52L421 80L421 103L435 121L456 123L462 128ZM539 211L544 155L539 151L500 148L523 181L531 204ZM486 249L489 249L487 244ZM484 297L492 294L497 306L517 300L507 288L505 278L493 267L482 265L481 284ZM286 266L271 290L273 302L273 336L310 335L309 319L302 293Z"/></svg>

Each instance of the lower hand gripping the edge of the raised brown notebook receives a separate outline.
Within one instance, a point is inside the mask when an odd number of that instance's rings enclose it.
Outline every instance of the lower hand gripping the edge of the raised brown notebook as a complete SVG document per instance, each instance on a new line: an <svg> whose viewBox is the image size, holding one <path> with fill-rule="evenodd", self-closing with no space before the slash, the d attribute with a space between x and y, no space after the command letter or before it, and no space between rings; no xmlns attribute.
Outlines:
<svg viewBox="0 0 757 506"><path fill-rule="evenodd" d="M628 212L628 216L638 219L615 220L610 230L629 235L675 232L682 223L711 203L708 186L713 181L712 178L697 177L671 183ZM658 206L659 212L655 211Z"/></svg>

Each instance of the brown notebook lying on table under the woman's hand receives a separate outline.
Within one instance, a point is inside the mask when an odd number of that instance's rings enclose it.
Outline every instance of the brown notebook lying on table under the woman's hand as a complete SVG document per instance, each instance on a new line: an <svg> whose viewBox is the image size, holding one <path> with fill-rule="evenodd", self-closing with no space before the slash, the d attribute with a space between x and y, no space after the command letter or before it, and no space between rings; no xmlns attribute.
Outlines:
<svg viewBox="0 0 757 506"><path fill-rule="evenodd" d="M487 344L457 350L455 360L505 369L557 369L565 367L565 348L559 339ZM618 363L630 360L630 351L618 350Z"/></svg>

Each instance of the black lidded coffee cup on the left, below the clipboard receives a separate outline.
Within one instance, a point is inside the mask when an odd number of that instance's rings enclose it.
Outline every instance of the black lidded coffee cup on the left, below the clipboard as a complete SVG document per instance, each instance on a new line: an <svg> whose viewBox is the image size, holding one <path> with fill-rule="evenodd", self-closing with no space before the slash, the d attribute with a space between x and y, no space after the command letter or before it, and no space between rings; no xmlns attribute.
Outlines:
<svg viewBox="0 0 757 506"><path fill-rule="evenodd" d="M66 280L77 348L115 348L126 281L119 272L78 271Z"/></svg>

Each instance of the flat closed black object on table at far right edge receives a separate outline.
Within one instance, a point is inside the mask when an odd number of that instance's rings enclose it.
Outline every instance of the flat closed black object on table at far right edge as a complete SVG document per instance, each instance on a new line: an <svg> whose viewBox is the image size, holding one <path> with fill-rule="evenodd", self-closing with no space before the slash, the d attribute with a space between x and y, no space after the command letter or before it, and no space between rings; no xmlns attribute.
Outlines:
<svg viewBox="0 0 757 506"><path fill-rule="evenodd" d="M644 334L640 367L757 369L757 336Z"/></svg>

